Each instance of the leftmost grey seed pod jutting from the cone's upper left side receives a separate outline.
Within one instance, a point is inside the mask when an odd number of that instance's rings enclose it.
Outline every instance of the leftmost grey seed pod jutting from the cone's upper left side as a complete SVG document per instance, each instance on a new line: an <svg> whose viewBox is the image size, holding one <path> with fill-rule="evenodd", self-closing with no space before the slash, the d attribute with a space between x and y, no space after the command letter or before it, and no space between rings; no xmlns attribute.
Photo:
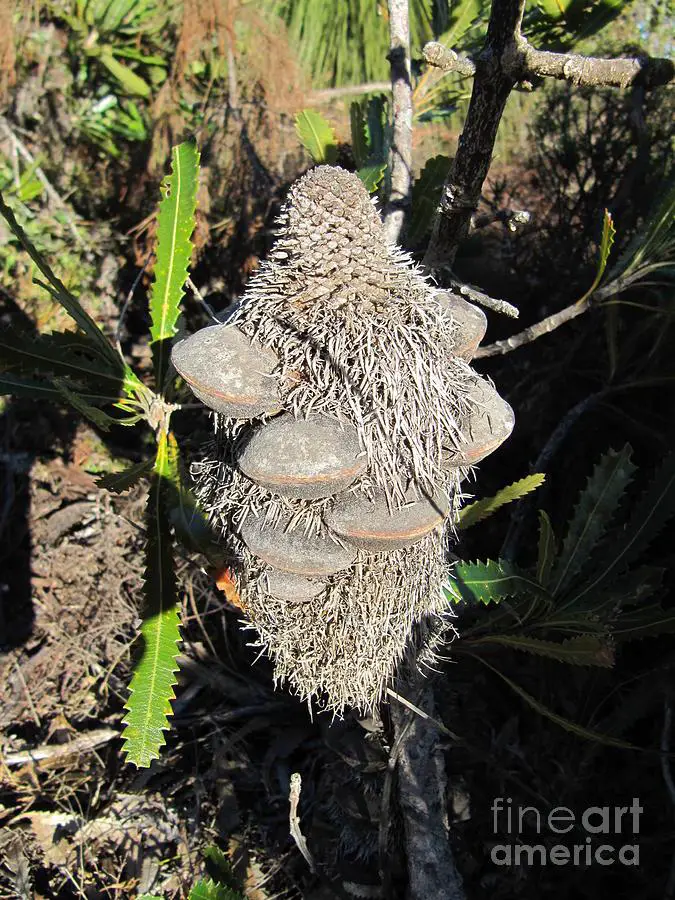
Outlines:
<svg viewBox="0 0 675 900"><path fill-rule="evenodd" d="M233 419L271 416L282 409L275 354L233 325L210 325L174 345L171 360L192 393Z"/></svg>

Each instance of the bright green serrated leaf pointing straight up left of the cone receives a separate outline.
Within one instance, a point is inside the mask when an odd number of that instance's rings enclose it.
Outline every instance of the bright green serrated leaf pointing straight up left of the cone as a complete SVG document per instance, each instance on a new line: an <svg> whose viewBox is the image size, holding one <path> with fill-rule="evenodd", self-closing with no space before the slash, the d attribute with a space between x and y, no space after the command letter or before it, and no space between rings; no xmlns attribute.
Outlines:
<svg viewBox="0 0 675 900"><path fill-rule="evenodd" d="M199 151L194 141L185 141L171 152L171 174L162 182L157 220L150 337L158 388L164 384L168 369L170 341L176 334L180 301L192 256L198 184Z"/></svg>

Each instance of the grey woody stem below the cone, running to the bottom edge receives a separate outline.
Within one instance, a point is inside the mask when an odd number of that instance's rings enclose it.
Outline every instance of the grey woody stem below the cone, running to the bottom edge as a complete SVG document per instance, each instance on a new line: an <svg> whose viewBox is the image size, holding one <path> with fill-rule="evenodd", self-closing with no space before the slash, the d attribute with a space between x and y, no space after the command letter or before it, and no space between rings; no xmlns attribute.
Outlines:
<svg viewBox="0 0 675 900"><path fill-rule="evenodd" d="M433 708L429 686L423 702ZM391 707L391 717L401 737L398 795L406 836L407 896L410 900L464 900L448 840L447 784L443 756L438 752L438 729L431 717L420 718L398 705Z"/></svg>

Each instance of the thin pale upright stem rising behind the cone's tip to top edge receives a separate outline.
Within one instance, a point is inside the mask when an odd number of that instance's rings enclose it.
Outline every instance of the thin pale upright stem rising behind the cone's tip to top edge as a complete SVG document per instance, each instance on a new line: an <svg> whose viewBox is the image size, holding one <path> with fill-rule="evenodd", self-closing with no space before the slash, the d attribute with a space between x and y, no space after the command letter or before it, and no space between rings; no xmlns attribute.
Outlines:
<svg viewBox="0 0 675 900"><path fill-rule="evenodd" d="M393 129L391 190L382 216L387 240L399 240L412 203L412 83L408 0L389 0Z"/></svg>

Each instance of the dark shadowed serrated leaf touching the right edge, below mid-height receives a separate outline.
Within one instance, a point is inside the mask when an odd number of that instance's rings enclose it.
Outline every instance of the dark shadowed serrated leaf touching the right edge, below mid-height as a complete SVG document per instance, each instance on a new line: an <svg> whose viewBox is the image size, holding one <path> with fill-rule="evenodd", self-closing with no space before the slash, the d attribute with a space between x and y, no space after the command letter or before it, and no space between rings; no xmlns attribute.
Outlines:
<svg viewBox="0 0 675 900"><path fill-rule="evenodd" d="M592 575L574 591L566 605L578 605L601 585L629 568L675 515L675 453L664 460L650 486L634 505L620 536L606 547Z"/></svg>

